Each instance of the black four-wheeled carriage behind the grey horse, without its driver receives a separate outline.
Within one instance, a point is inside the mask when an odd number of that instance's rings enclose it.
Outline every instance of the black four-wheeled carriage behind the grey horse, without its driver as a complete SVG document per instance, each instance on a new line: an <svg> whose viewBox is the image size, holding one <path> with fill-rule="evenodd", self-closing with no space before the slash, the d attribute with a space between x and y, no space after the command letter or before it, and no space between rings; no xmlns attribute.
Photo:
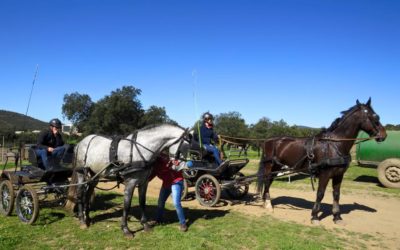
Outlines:
<svg viewBox="0 0 400 250"><path fill-rule="evenodd" d="M11 215L14 204L19 219L32 224L39 216L39 203L63 206L67 200L69 177L72 174L73 145L66 146L59 163L46 170L35 146L29 148L31 165L6 170L4 164L0 176L0 213Z"/></svg>

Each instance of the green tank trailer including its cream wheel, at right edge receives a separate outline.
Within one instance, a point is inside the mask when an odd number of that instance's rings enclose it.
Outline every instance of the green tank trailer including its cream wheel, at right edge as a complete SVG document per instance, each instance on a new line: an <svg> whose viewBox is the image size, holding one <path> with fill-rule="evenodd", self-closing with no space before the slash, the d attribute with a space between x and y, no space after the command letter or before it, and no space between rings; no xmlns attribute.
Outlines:
<svg viewBox="0 0 400 250"><path fill-rule="evenodd" d="M383 142L368 140L357 144L356 158L359 165L375 165L382 185L400 188L400 131L386 131ZM361 132L358 138L368 138Z"/></svg>

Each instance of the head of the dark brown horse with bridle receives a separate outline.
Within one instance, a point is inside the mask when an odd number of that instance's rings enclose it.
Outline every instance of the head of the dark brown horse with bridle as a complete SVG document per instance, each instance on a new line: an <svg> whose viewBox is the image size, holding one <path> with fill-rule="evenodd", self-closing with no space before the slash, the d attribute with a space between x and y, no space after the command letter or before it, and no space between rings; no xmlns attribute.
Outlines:
<svg viewBox="0 0 400 250"><path fill-rule="evenodd" d="M375 137L378 142L386 139L386 130L382 126L379 115L371 107L371 98L368 99L366 104L362 104L357 100L358 116L361 124L360 129L368 133L369 136Z"/></svg>

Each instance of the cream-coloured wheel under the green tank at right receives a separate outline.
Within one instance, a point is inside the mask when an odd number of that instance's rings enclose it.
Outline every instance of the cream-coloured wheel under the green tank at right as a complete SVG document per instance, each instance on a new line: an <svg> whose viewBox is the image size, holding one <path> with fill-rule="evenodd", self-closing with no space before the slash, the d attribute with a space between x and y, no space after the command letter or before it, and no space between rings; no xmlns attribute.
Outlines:
<svg viewBox="0 0 400 250"><path fill-rule="evenodd" d="M378 165L378 179L388 188L400 188L400 159L386 159Z"/></svg>

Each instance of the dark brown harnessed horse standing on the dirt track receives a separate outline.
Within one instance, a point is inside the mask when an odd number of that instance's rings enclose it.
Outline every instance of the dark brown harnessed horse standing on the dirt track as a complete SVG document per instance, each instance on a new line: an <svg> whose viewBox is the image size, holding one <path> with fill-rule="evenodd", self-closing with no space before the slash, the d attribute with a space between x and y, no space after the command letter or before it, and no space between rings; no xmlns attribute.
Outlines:
<svg viewBox="0 0 400 250"><path fill-rule="evenodd" d="M273 211L269 188L274 177L283 171L309 172L318 177L317 198L311 212L311 222L319 223L318 213L326 186L332 179L333 221L343 223L340 215L340 186L343 175L351 162L350 149L355 143L360 130L380 142L386 139L386 130L379 121L379 116L371 107L371 98L366 104L358 100L356 105L342 112L328 129L314 137L274 137L263 145L257 190L261 195L264 208Z"/></svg>

